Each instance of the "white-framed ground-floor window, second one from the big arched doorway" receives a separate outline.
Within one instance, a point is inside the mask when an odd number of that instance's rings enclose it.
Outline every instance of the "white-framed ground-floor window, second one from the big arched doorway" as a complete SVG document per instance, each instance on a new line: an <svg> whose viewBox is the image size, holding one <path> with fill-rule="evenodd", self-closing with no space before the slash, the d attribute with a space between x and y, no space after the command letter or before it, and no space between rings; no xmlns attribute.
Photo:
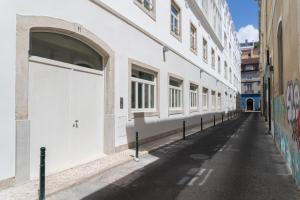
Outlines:
<svg viewBox="0 0 300 200"><path fill-rule="evenodd" d="M182 80L169 79L169 109L182 110Z"/></svg>

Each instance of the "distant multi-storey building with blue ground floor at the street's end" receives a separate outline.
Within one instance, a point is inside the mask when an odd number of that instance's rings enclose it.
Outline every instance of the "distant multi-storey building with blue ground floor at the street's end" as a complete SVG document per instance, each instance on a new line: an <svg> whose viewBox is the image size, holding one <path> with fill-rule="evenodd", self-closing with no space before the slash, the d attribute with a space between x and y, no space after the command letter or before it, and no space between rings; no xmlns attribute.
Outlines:
<svg viewBox="0 0 300 200"><path fill-rule="evenodd" d="M260 110L260 69L259 69L259 43L248 42L240 44L242 51L241 65L241 110Z"/></svg>

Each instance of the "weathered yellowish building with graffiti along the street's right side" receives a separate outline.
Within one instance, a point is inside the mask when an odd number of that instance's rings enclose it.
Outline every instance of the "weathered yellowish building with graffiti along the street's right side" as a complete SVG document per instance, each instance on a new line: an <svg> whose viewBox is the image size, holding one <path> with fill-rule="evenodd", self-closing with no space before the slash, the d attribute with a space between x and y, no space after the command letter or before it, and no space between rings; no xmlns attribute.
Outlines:
<svg viewBox="0 0 300 200"><path fill-rule="evenodd" d="M262 111L300 185L300 1L261 0Z"/></svg>

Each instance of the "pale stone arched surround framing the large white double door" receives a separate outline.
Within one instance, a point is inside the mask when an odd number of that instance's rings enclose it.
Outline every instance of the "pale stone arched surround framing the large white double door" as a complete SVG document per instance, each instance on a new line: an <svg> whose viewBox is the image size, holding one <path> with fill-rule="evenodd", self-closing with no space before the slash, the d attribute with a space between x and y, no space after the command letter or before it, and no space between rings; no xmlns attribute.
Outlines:
<svg viewBox="0 0 300 200"><path fill-rule="evenodd" d="M16 38L16 182L30 177L30 121L28 120L28 68L30 32L49 31L74 37L99 52L104 58L104 153L115 151L114 51L80 24L46 16L17 15Z"/></svg>

